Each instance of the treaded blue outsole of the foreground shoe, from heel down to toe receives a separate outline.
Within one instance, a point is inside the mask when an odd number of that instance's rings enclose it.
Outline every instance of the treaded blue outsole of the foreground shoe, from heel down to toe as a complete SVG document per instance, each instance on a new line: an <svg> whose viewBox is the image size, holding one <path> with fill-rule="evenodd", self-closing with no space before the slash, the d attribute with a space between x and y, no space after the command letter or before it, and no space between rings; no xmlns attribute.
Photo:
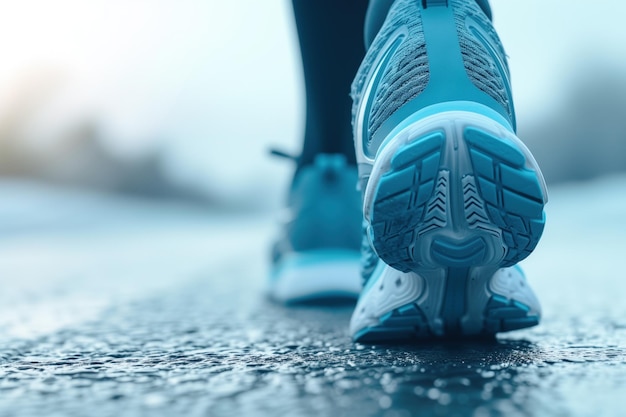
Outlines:
<svg viewBox="0 0 626 417"><path fill-rule="evenodd" d="M473 112L404 125L376 157L364 214L378 256L425 280L430 310L411 300L355 338L493 334L536 325L528 306L486 290L493 274L526 258L543 232L547 193L530 151L498 122ZM408 327L397 325L412 319Z"/></svg>

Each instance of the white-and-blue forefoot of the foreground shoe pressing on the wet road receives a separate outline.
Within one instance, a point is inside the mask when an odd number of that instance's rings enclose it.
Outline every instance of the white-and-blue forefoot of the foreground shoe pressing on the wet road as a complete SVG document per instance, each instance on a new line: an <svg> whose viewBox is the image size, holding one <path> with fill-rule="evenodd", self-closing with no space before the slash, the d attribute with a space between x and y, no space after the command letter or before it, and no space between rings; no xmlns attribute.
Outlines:
<svg viewBox="0 0 626 417"><path fill-rule="evenodd" d="M487 285L480 268L470 275L387 268L355 308L355 342L484 337L539 324L538 302L514 268L498 271Z"/></svg>

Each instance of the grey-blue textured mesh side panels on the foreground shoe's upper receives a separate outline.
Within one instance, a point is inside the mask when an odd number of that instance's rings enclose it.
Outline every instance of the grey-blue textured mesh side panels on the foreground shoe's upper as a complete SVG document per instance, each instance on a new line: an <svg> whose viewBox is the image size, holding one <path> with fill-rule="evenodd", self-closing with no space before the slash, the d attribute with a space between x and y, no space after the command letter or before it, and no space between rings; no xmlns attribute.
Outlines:
<svg viewBox="0 0 626 417"><path fill-rule="evenodd" d="M454 8L459 46L468 78L478 89L500 103L513 119L513 108L509 103L504 84L506 81L494 58L465 25L467 17L479 22L496 45L496 53L501 54L506 66L506 55L491 20L474 0L450 0L449 4ZM416 0L394 2L352 83L353 120L355 120L368 73L390 36L399 27L405 26L408 36L385 69L375 92L366 132L370 138L397 109L422 93L430 80L426 42L418 5L419 2ZM505 70L508 71L508 67Z"/></svg>

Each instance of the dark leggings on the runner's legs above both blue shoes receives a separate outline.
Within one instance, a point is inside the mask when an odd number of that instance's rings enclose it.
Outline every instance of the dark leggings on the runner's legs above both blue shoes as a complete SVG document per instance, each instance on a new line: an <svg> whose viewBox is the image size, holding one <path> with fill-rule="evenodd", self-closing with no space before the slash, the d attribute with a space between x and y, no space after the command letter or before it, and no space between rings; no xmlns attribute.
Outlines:
<svg viewBox="0 0 626 417"><path fill-rule="evenodd" d="M318 153L344 154L355 163L350 83L393 1L292 0L306 91L299 167ZM476 2L491 18L488 0Z"/></svg>

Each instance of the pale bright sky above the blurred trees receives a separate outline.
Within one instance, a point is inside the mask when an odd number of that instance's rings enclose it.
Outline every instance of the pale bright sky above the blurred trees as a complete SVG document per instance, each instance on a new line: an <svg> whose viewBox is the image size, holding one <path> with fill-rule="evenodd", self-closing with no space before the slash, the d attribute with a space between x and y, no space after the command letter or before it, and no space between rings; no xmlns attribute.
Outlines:
<svg viewBox="0 0 626 417"><path fill-rule="evenodd" d="M0 119L16 97L44 97L25 137L45 149L95 121L121 157L168 155L184 183L224 194L258 178L284 187L296 153L303 87L287 0L0 0ZM626 72L626 3L492 0L510 57L518 123L564 100L584 63Z"/></svg>

